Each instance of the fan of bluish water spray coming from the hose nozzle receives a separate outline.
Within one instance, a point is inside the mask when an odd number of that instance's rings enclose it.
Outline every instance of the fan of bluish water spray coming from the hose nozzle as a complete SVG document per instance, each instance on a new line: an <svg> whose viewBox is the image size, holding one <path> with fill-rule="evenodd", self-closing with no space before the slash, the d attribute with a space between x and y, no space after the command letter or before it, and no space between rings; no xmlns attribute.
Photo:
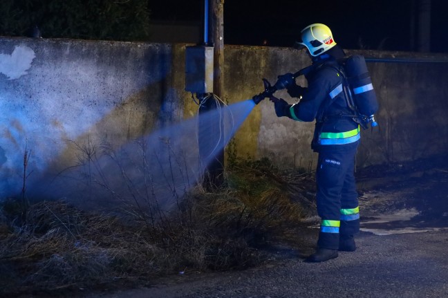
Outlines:
<svg viewBox="0 0 448 298"><path fill-rule="evenodd" d="M46 197L66 198L89 208L156 202L169 209L200 183L207 165L223 151L254 105L252 100L221 104L119 149L94 140L71 142L68 145L78 152L77 165L31 188Z"/></svg>

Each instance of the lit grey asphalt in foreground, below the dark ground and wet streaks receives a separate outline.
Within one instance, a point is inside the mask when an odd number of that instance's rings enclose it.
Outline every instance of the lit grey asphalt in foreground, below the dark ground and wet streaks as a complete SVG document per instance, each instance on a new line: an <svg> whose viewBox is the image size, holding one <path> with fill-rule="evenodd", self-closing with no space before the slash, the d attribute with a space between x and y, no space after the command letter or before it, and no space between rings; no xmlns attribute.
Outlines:
<svg viewBox="0 0 448 298"><path fill-rule="evenodd" d="M324 263L306 263L291 251L261 268L187 274L95 297L448 297L448 230L362 232L357 244L357 251Z"/></svg>

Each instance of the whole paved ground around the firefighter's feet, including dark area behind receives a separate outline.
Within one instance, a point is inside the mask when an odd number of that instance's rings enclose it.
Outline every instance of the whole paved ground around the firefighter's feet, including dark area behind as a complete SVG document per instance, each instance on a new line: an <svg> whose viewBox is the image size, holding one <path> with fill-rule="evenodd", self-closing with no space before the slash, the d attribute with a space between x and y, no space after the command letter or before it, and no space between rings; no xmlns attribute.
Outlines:
<svg viewBox="0 0 448 298"><path fill-rule="evenodd" d="M357 172L362 232L355 252L305 263L316 218L297 227L301 245L271 243L262 266L179 272L151 286L82 297L447 297L448 164L445 157Z"/></svg>

